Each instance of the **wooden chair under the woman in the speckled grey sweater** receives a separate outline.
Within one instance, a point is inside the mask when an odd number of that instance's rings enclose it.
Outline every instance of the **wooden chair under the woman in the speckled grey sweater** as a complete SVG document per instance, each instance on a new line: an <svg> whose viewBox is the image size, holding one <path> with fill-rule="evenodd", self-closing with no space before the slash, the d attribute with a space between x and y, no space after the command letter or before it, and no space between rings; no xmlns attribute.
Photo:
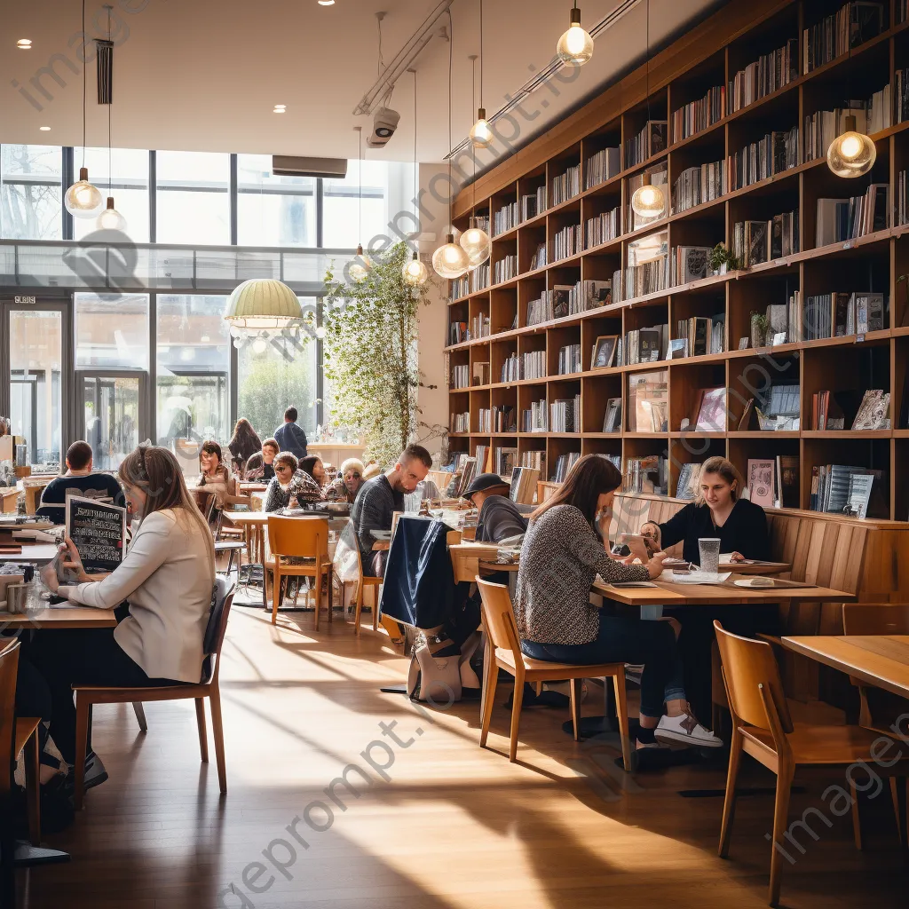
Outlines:
<svg viewBox="0 0 909 909"><path fill-rule="evenodd" d="M511 750L509 760L514 764L517 758L517 732L521 723L521 703L524 699L524 682L571 681L571 714L574 724L574 741L578 740L578 724L581 719L581 681L585 678L611 677L615 690L615 710L619 718L622 735L622 760L624 768L630 771L631 743L628 736L628 703L624 687L624 663L604 663L581 666L569 663L548 663L525 656L517 636L514 621L514 607L508 588L504 584L490 584L479 576L476 585L483 600L483 626L489 639L483 676L483 725L480 732L480 747L486 745L489 724L493 716L495 687L498 684L499 669L514 675L514 699L512 703Z"/></svg>

